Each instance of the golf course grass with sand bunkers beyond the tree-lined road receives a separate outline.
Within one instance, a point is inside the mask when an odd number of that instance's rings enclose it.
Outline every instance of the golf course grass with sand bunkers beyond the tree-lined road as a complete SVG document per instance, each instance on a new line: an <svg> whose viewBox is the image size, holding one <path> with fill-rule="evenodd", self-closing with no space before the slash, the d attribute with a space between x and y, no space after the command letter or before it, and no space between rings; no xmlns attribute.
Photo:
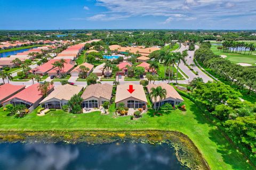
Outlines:
<svg viewBox="0 0 256 170"><path fill-rule="evenodd" d="M211 50L214 54L217 55L226 55L225 59L233 62L233 63L248 63L252 65L256 65L256 55L248 55L247 52L245 55L237 53L223 53L222 50L217 49L217 45L212 45Z"/></svg>

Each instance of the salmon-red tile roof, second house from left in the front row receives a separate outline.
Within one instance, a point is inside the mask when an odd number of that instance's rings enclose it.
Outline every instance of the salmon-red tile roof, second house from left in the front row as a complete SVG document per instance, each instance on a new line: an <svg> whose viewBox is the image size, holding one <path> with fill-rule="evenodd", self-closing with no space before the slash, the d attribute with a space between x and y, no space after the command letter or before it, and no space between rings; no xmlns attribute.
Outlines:
<svg viewBox="0 0 256 170"><path fill-rule="evenodd" d="M5 103L6 101L9 101L13 98L19 98L19 99L28 101L30 103L35 103L37 100L39 100L43 96L41 91L38 91L38 86L39 86L39 83L33 84L33 85L29 86L28 88L18 92L18 94L3 101L3 103ZM53 88L53 85L50 86L49 90L52 88Z"/></svg>

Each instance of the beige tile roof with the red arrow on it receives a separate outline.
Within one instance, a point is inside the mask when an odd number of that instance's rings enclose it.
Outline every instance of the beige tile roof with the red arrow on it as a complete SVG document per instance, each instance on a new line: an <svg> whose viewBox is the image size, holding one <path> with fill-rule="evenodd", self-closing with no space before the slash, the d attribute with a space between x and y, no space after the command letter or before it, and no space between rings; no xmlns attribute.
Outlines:
<svg viewBox="0 0 256 170"><path fill-rule="evenodd" d="M135 89L132 92L132 94L130 94L130 92L127 90L127 89L129 89L130 85L133 85L133 89ZM115 103L125 100L129 97L133 97L133 98L139 99L141 101L145 101L146 103L148 102L142 85L133 84L133 83L126 83L126 84L118 85L117 89L116 89Z"/></svg>

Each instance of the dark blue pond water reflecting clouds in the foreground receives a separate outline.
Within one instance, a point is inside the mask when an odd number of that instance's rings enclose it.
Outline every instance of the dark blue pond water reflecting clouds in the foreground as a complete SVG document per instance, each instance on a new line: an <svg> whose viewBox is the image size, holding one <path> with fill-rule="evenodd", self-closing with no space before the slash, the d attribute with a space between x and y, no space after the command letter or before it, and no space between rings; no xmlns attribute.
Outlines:
<svg viewBox="0 0 256 170"><path fill-rule="evenodd" d="M0 169L188 169L167 144L0 144Z"/></svg>

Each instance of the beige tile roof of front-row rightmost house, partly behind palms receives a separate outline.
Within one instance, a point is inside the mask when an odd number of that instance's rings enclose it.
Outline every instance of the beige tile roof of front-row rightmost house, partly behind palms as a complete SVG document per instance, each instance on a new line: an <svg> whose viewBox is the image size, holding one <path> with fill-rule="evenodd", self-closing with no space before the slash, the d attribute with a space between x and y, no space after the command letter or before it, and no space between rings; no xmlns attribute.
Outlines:
<svg viewBox="0 0 256 170"><path fill-rule="evenodd" d="M148 84L147 89L150 92L151 88L157 88L158 86L161 86L163 89L166 90L166 98L173 98L173 99L179 99L182 100L182 97L178 94L178 92L167 83L160 83L160 84ZM155 100L153 100L155 101ZM159 101L159 97L156 98L156 101Z"/></svg>

